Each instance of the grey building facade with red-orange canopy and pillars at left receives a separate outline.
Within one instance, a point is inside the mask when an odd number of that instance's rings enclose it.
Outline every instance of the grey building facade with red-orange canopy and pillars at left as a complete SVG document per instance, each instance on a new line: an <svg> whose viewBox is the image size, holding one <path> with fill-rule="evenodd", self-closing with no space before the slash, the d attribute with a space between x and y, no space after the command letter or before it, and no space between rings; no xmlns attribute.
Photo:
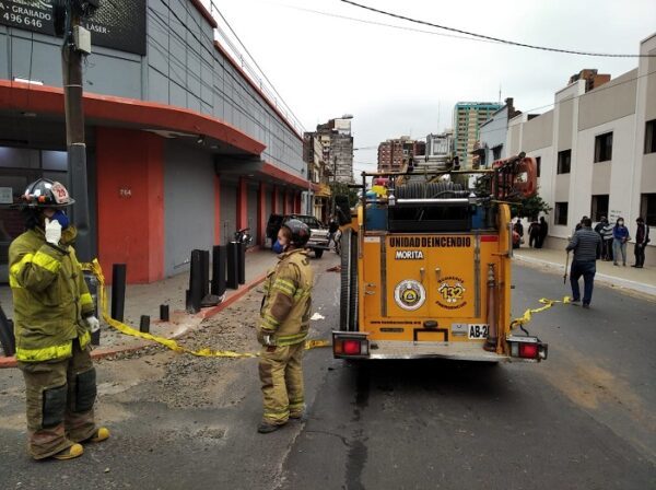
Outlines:
<svg viewBox="0 0 656 490"><path fill-rule="evenodd" d="M38 177L70 184L62 40L45 7L32 9L42 22L8 21L2 14L19 3L0 2L4 203ZM129 282L152 282L187 270L191 249L224 244L238 229L263 243L269 213L300 210L309 186L298 126L215 40L218 24L199 0L101 9L84 68L93 219L80 235L89 250L81 258L97 256L105 270L127 264ZM102 35L116 26L121 36ZM20 214L0 209L0 280L21 232Z"/></svg>

